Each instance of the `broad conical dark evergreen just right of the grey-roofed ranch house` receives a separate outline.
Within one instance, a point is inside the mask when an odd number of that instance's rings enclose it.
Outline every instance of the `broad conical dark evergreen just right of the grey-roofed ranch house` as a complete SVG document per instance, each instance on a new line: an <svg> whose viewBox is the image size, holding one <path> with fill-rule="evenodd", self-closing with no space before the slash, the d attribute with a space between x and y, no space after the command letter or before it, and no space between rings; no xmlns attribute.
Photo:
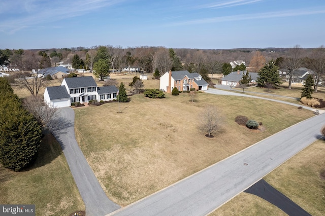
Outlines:
<svg viewBox="0 0 325 216"><path fill-rule="evenodd" d="M257 85L265 86L278 86L280 85L279 67L275 65L273 60L269 61L258 72Z"/></svg>

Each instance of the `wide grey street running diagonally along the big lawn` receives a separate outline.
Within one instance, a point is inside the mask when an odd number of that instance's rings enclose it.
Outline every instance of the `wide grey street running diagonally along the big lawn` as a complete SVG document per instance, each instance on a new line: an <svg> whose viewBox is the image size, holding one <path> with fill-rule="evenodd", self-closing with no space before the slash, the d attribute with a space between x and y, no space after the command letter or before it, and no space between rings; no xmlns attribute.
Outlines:
<svg viewBox="0 0 325 216"><path fill-rule="evenodd" d="M325 114L314 116L108 215L208 214L320 138L324 123Z"/></svg>

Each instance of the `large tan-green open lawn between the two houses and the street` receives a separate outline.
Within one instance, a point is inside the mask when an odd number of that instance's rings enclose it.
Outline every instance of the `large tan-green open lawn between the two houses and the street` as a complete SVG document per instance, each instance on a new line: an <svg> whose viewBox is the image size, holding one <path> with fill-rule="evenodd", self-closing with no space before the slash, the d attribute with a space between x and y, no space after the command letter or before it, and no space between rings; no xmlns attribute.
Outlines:
<svg viewBox="0 0 325 216"><path fill-rule="evenodd" d="M199 131L200 113L209 104L223 116L214 138ZM76 137L104 191L127 205L313 114L266 100L198 93L164 99L131 97L131 102L76 109ZM251 131L234 122L238 115L262 122Z"/></svg>

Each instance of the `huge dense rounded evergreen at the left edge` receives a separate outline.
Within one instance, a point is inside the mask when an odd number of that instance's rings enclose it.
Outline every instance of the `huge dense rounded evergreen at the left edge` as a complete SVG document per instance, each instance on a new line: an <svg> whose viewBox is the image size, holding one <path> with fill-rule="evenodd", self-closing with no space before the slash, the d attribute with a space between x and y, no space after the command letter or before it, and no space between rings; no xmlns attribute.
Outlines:
<svg viewBox="0 0 325 216"><path fill-rule="evenodd" d="M36 160L42 126L4 78L0 78L0 113L0 163L19 171Z"/></svg>

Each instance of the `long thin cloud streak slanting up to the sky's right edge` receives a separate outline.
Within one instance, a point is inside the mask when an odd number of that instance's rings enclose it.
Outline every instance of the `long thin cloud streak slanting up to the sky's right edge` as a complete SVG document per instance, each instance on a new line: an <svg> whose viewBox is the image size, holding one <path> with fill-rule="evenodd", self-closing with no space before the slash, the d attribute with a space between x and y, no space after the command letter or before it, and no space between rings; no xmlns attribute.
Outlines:
<svg viewBox="0 0 325 216"><path fill-rule="evenodd" d="M234 16L223 16L223 17L212 17L206 19L196 19L184 22L174 22L166 24L167 26L180 26L180 25L193 25L193 24L207 24L207 23L217 23L217 22L229 22L238 20L251 20L251 19L268 19L268 18L280 18L280 17L293 17L293 16L304 16L313 14L324 14L323 10L290 10L290 11L279 11L270 13L259 13L259 14L242 14Z"/></svg>

